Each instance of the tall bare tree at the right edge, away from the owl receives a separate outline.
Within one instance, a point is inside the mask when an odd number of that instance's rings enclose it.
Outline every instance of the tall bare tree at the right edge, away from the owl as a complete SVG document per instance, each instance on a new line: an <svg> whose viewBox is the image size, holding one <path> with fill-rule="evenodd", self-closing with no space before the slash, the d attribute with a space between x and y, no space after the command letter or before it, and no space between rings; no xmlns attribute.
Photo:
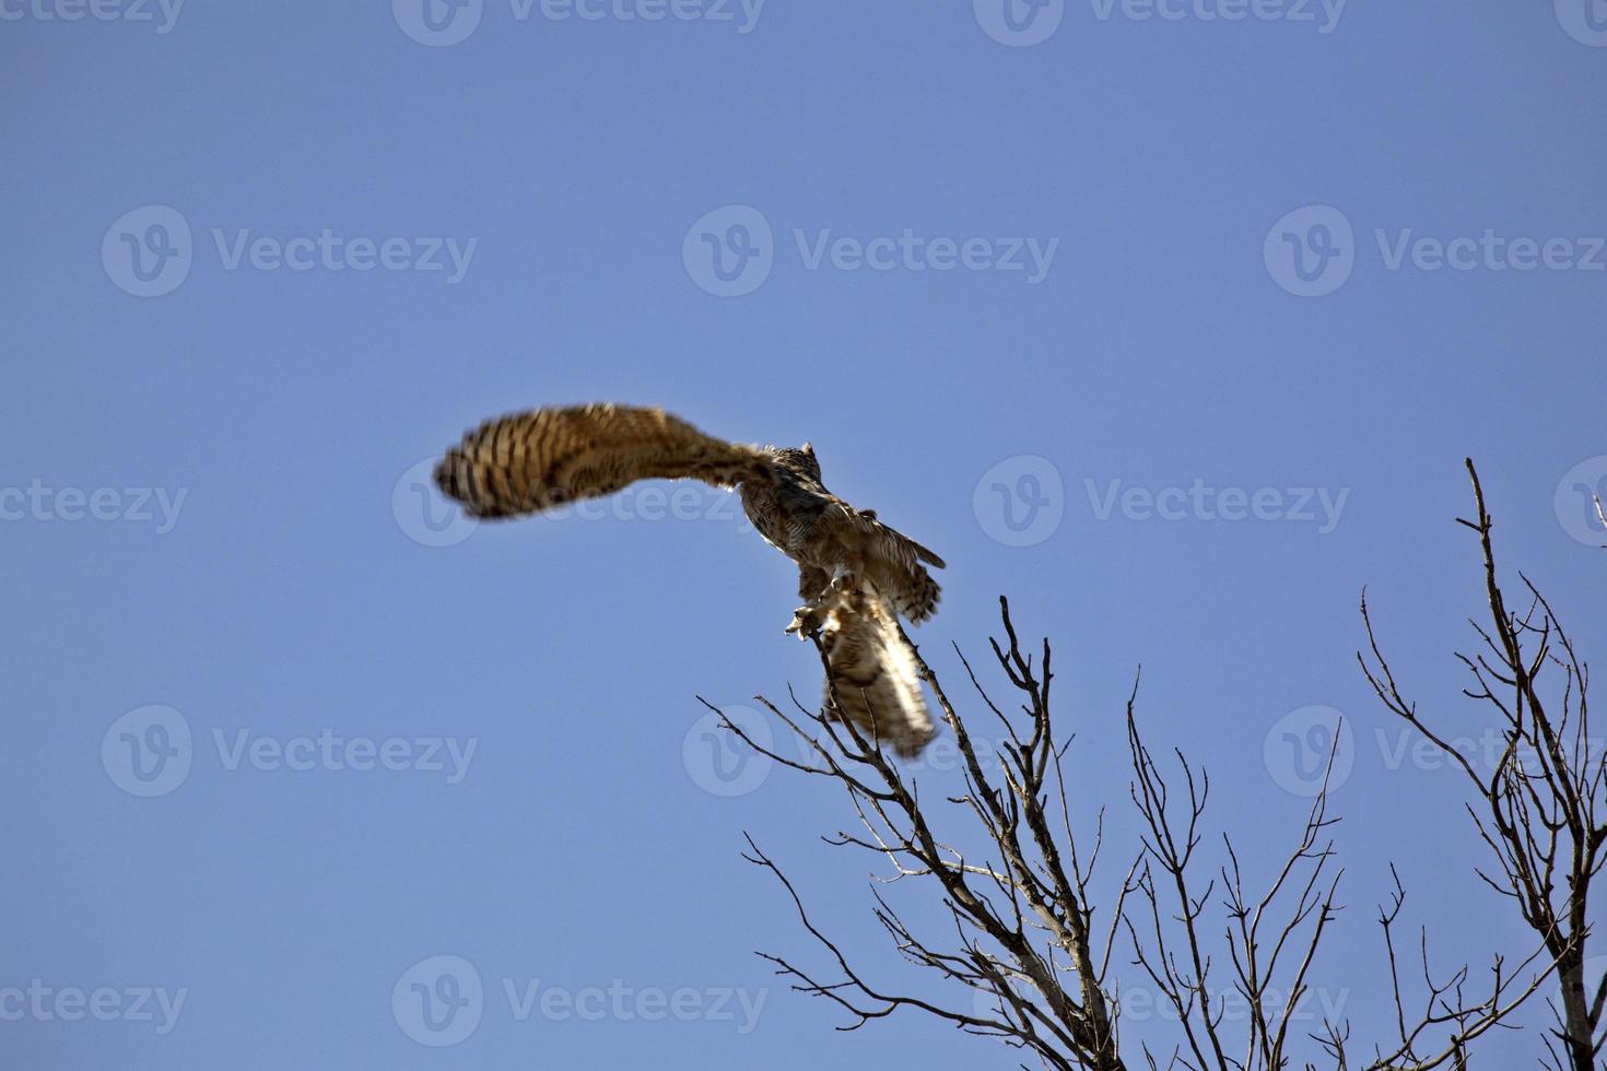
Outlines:
<svg viewBox="0 0 1607 1071"><path fill-rule="evenodd" d="M1490 511L1472 461L1467 475L1478 512L1458 523L1478 535L1490 613L1488 625L1472 621L1482 645L1458 658L1472 676L1462 694L1498 713L1504 740L1499 759L1491 769L1478 769L1448 745L1443 729L1419 718L1417 705L1401 695L1379 650L1366 597L1361 617L1372 657L1356 658L1384 705L1448 751L1467 776L1475 800L1467 812L1496 864L1493 873L1480 869L1478 877L1514 902L1557 963L1562 994L1560 1008L1552 1002L1556 1029L1546 1042L1546 1066L1593 1071L1607 1044L1607 978L1594 988L1585 978L1591 882L1607 862L1607 750L1591 737L1589 670L1528 576L1519 573L1528 605L1522 612L1507 609Z"/></svg>

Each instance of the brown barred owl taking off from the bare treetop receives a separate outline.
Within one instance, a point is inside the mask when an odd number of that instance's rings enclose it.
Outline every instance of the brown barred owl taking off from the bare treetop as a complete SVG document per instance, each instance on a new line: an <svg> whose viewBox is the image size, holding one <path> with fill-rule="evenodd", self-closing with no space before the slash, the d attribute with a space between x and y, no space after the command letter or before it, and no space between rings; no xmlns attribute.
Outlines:
<svg viewBox="0 0 1607 1071"><path fill-rule="evenodd" d="M898 615L932 617L926 565L943 560L828 491L808 443L728 443L657 408L583 405L487 421L435 466L435 485L472 517L537 514L649 478L734 487L754 528L799 565L804 605L786 631L820 634L842 715L900 755L926 747L932 716Z"/></svg>

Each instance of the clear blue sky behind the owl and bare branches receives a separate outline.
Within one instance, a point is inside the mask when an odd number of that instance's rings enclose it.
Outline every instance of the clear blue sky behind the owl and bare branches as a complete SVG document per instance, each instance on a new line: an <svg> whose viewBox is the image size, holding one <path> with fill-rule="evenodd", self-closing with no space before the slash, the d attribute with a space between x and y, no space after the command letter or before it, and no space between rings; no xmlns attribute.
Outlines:
<svg viewBox="0 0 1607 1071"><path fill-rule="evenodd" d="M1596 3L0 0L6 1063L1012 1066L836 1034L752 955L813 949L742 830L908 976L815 840L845 801L704 735L694 695L818 689L728 501L421 496L558 401L812 440L948 560L918 639L971 708L950 644L1009 594L1112 870L1139 663L1263 875L1342 713L1319 968L1358 1039L1390 861L1443 960L1525 952L1356 602L1477 740L1474 456L1506 567L1607 642Z"/></svg>

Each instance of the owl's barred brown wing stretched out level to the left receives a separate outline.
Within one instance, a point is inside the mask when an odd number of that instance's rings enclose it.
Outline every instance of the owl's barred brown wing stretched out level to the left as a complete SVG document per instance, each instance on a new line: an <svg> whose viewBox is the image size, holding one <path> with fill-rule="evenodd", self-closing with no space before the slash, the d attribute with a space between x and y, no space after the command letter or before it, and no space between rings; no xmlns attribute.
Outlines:
<svg viewBox="0 0 1607 1071"><path fill-rule="evenodd" d="M480 424L435 466L435 485L472 517L519 517L635 480L717 487L770 474L757 446L705 435L659 408L551 406Z"/></svg>

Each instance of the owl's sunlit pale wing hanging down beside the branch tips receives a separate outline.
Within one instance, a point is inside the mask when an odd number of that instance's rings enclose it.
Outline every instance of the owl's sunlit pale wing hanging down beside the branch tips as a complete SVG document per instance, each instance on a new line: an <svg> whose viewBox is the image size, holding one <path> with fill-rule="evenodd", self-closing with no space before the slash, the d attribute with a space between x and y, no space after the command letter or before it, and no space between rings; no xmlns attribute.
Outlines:
<svg viewBox="0 0 1607 1071"><path fill-rule="evenodd" d="M935 732L921 695L921 671L898 634L897 618L869 584L844 593L820 633L837 710L869 740L892 743L905 758Z"/></svg>

